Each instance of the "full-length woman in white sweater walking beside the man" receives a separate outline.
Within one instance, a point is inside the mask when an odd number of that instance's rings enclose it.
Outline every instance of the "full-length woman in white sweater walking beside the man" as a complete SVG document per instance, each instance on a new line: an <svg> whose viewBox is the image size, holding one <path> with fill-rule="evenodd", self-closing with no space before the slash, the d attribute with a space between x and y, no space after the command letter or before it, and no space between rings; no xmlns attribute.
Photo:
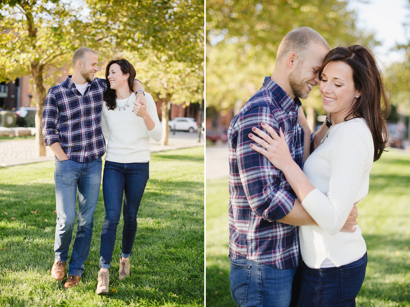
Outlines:
<svg viewBox="0 0 410 307"><path fill-rule="evenodd" d="M105 69L107 91L101 123L107 140L103 174L105 220L101 232L100 272L97 293L108 293L116 230L124 198L123 239L118 278L130 275L130 256L137 231L137 213L149 177L150 137L159 141L162 128L152 96L132 82L135 69L125 59L113 60ZM132 106L132 102L134 105Z"/></svg>

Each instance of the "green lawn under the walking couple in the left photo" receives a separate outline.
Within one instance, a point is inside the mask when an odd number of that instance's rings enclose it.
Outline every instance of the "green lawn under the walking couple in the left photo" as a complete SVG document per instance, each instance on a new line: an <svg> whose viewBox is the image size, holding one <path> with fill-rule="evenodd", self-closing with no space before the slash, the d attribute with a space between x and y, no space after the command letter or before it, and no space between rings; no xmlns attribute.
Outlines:
<svg viewBox="0 0 410 307"><path fill-rule="evenodd" d="M107 296L96 294L103 190L81 283L65 290L64 283L50 275L56 218L54 163L0 169L0 306L203 306L204 148L151 157L131 275L118 280L121 217ZM75 232L73 240L74 236Z"/></svg>

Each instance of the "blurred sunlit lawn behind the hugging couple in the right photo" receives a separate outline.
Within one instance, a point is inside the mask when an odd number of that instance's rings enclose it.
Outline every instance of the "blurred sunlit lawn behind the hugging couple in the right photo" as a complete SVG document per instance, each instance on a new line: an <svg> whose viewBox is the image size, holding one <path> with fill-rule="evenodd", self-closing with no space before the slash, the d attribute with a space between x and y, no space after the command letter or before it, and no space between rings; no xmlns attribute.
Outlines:
<svg viewBox="0 0 410 307"><path fill-rule="evenodd" d="M360 307L410 307L410 157L389 150L373 164L369 194L358 204L368 254ZM206 303L235 307L228 280L228 179L206 185Z"/></svg>

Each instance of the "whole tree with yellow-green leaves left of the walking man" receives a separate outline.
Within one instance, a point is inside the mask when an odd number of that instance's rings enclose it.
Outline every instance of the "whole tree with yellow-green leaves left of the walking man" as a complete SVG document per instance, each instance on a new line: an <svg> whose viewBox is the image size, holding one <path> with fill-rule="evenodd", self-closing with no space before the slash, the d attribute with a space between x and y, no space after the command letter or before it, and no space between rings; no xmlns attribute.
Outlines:
<svg viewBox="0 0 410 307"><path fill-rule="evenodd" d="M51 67L66 62L80 44L76 30L79 12L56 0L2 1L0 21L2 81L31 74L36 102L36 144L39 156L46 155L41 120L46 88L44 76Z"/></svg>

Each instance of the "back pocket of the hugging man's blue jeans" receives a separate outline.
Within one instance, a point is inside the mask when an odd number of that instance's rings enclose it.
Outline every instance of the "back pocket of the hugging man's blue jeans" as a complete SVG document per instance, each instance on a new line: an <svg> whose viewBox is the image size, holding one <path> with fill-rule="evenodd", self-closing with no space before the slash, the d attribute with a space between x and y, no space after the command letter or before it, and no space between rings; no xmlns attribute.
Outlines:
<svg viewBox="0 0 410 307"><path fill-rule="evenodd" d="M246 304L251 266L230 261L229 284L232 300L241 307Z"/></svg>

